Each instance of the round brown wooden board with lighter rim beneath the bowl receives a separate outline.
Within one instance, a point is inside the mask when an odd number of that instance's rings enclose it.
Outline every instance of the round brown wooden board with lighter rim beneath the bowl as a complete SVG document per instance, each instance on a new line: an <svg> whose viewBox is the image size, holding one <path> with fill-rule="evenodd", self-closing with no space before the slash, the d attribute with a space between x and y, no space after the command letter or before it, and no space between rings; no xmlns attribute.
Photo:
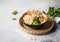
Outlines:
<svg viewBox="0 0 60 42"><path fill-rule="evenodd" d="M52 28L54 27L54 20L51 18L51 17L48 17L48 20L47 22L40 26L39 29L32 29L31 27L28 27L26 26L24 23L23 23L23 17L21 17L19 19L19 25L20 25L20 28L27 32L27 33L30 33L30 34L34 34L34 35L42 35L42 34L46 34L48 33L49 31L52 30Z"/></svg>

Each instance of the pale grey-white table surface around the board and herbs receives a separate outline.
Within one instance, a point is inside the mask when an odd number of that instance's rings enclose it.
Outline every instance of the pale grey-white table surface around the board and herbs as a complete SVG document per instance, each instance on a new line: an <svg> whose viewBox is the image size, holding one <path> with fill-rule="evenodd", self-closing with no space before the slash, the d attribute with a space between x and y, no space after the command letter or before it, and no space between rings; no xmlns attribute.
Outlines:
<svg viewBox="0 0 60 42"><path fill-rule="evenodd" d="M19 18L26 10L47 12L50 6L60 7L60 0L0 0L0 42L60 42L59 24L55 32L40 36L28 34L19 27ZM17 10L18 14L12 15L13 10Z"/></svg>

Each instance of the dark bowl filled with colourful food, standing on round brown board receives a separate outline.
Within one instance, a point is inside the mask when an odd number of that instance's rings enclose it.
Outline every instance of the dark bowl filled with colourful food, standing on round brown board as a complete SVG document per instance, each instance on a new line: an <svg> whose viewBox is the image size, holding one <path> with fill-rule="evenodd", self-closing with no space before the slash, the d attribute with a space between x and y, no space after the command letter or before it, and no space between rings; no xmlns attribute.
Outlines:
<svg viewBox="0 0 60 42"><path fill-rule="evenodd" d="M27 11L24 14L23 22L30 27L42 26L47 21L47 15L37 10Z"/></svg>

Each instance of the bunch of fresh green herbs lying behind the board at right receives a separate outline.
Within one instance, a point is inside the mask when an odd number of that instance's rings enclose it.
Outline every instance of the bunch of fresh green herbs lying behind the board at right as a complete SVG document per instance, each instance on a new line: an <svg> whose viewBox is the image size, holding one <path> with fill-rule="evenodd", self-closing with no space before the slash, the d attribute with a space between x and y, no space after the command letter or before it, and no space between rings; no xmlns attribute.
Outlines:
<svg viewBox="0 0 60 42"><path fill-rule="evenodd" d="M43 11L43 13L46 13ZM60 17L60 8L55 9L54 7L49 7L47 15L52 17Z"/></svg>

